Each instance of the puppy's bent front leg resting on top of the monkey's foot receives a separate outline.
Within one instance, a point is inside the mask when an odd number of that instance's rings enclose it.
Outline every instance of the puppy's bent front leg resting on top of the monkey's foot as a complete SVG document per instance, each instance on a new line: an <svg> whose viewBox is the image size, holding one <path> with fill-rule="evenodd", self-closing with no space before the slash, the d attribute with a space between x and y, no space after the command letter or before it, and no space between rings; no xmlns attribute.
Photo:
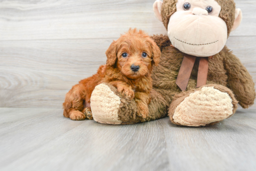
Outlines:
<svg viewBox="0 0 256 171"><path fill-rule="evenodd" d="M109 84L115 86L117 89L117 92L121 93L125 99L128 99L128 100L134 99L134 91L125 82L113 81L113 82L110 82Z"/></svg>

